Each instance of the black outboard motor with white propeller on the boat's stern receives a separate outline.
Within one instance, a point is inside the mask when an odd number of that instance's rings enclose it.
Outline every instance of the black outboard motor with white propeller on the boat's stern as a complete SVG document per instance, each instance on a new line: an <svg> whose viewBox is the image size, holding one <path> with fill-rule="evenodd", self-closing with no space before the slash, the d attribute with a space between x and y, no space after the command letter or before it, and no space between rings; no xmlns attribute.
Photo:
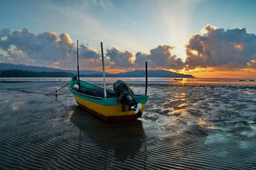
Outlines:
<svg viewBox="0 0 256 170"><path fill-rule="evenodd" d="M141 114L141 103L136 103L133 98L134 92L132 92L132 89L130 89L124 81L117 80L114 83L114 91L115 97L117 97L118 101L122 103L122 111L134 110L135 113ZM125 107L127 105L129 106L128 110Z"/></svg>

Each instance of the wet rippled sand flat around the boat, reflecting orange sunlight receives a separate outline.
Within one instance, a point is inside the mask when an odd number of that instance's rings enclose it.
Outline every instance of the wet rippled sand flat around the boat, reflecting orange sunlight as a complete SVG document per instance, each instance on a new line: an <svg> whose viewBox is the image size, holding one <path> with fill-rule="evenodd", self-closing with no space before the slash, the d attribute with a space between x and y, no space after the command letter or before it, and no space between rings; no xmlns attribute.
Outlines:
<svg viewBox="0 0 256 170"><path fill-rule="evenodd" d="M0 83L0 169L256 169L255 83L150 81L143 117L116 124L42 95L66 83Z"/></svg>

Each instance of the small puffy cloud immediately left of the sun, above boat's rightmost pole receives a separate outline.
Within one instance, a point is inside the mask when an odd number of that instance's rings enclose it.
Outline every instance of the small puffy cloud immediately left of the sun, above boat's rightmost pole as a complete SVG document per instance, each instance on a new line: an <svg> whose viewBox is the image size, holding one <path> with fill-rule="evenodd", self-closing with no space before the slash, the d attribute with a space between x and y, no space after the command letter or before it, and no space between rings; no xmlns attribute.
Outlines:
<svg viewBox="0 0 256 170"><path fill-rule="evenodd" d="M157 48L150 50L150 53L136 53L135 64L138 67L143 67L145 62L150 62L150 67L163 67L166 69L183 69L184 62L172 55L174 46L159 45Z"/></svg>

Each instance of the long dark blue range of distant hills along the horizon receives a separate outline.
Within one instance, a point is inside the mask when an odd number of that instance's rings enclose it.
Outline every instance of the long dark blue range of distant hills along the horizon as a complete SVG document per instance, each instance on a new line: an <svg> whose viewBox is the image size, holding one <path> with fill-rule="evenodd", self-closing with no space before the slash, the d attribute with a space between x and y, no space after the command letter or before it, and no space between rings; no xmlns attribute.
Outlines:
<svg viewBox="0 0 256 170"><path fill-rule="evenodd" d="M16 71L15 71L16 70ZM18 73L20 70L20 73ZM76 70L53 69L50 67L25 66L22 64L6 64L0 63L0 76L70 76L71 73L77 74ZM30 71L30 72L26 72ZM8 73L9 72L9 73ZM38 72L38 73L32 73ZM87 77L102 77L101 71L80 70L81 76ZM126 73L111 74L106 73L106 77L145 77L144 70L128 71ZM195 78L190 74L173 73L165 70L148 70L148 77L162 77L162 78Z"/></svg>

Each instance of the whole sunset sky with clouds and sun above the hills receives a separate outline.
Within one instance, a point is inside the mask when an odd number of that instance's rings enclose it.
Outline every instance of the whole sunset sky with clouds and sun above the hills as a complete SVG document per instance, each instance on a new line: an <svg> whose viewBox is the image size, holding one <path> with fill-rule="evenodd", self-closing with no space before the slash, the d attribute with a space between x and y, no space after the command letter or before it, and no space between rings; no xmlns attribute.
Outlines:
<svg viewBox="0 0 256 170"><path fill-rule="evenodd" d="M0 62L256 78L254 0L1 0Z"/></svg>

